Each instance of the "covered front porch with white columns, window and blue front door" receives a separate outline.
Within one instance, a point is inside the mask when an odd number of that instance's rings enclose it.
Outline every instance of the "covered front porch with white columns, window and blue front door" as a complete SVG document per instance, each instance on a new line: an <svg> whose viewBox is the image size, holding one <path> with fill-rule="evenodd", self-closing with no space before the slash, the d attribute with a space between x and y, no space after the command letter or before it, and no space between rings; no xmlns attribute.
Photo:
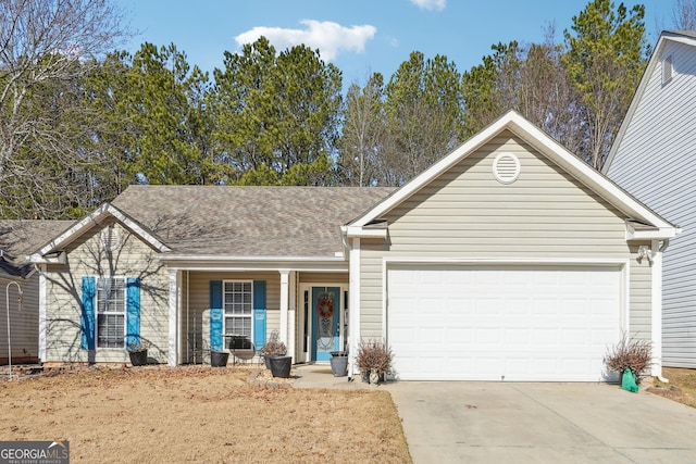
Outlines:
<svg viewBox="0 0 696 464"><path fill-rule="evenodd" d="M345 261L279 266L170 267L167 364L209 362L244 336L258 351L273 336L293 363L327 362L348 340L349 274ZM298 268L299 267L299 268Z"/></svg>

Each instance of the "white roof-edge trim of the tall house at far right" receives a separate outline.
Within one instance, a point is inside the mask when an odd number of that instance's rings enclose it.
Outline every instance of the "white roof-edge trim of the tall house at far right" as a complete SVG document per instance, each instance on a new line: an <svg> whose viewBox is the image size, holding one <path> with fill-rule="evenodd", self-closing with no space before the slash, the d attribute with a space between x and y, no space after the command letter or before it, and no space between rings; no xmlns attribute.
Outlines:
<svg viewBox="0 0 696 464"><path fill-rule="evenodd" d="M662 30L660 34L660 38L655 46L655 50L652 50L652 54L650 55L650 60L648 61L647 66L645 66L645 71L643 72L643 77L641 77L641 83L638 83L638 87L633 95L633 100L631 101L631 105L629 106L629 111L621 123L621 127L617 133L617 137L611 143L611 149L609 150L609 155L607 156L607 161L601 167L601 172L607 174L611 164L613 163L613 159L621 146L623 137L631 125L631 121L637 111L638 104L643 99L643 95L645 93L648 81L650 77L655 73L655 67L660 65L660 60L662 58L662 52L664 51L664 47L669 41L675 41L680 43L684 43L687 46L696 47L696 30Z"/></svg>

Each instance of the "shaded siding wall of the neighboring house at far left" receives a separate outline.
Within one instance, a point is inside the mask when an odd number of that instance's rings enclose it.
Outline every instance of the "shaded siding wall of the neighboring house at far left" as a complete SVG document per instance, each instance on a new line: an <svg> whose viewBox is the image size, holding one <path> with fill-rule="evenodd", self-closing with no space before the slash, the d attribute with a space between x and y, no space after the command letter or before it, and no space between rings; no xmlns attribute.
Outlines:
<svg viewBox="0 0 696 464"><path fill-rule="evenodd" d="M18 310L17 287L11 281L16 281L22 288L22 311ZM9 287L8 287L9 286ZM0 312L0 363L8 360L8 291L10 314L10 344L12 346L12 364L29 363L38 361L39 350L39 290L38 274L27 279L18 278L10 280L0 278L2 288L2 308Z"/></svg>

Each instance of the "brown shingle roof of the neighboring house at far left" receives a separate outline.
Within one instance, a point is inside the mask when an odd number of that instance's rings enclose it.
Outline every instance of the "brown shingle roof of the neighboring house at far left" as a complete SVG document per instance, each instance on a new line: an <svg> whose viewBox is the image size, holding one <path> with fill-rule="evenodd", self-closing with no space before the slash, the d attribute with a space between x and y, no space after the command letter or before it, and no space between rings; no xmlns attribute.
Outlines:
<svg viewBox="0 0 696 464"><path fill-rule="evenodd" d="M74 221L0 221L0 276L27 277L29 253L62 234Z"/></svg>

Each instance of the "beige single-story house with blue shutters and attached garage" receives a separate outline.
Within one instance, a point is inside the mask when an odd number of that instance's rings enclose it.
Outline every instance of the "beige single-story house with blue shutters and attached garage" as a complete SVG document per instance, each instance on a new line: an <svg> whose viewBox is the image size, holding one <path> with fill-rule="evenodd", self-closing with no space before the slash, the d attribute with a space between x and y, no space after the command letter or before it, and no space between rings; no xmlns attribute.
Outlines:
<svg viewBox="0 0 696 464"><path fill-rule="evenodd" d="M383 339L401 379L597 381L625 331L660 375L676 231L510 112L399 189L128 187L30 256L39 353L147 339L174 366L277 330L296 363L348 347L351 374Z"/></svg>

